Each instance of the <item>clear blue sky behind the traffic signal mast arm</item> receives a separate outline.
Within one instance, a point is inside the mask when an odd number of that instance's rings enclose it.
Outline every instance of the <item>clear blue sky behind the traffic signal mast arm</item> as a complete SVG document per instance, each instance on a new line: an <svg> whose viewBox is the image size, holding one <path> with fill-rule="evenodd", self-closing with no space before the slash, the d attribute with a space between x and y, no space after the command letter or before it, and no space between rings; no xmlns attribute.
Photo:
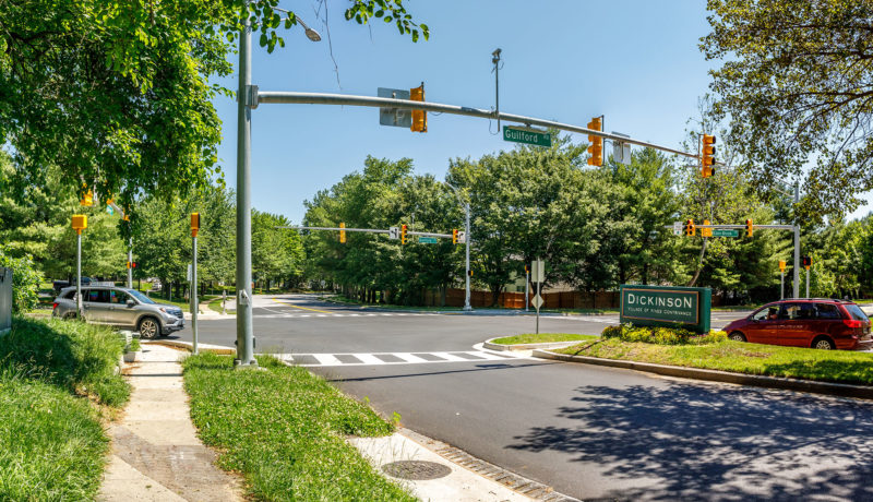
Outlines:
<svg viewBox="0 0 873 502"><path fill-rule="evenodd" d="M407 0L431 31L418 44L393 24L346 22L347 4L327 2L339 84L323 20L315 3L301 0L280 7L297 12L322 41L296 26L285 33L286 47L268 55L254 36L252 83L262 91L375 96L378 87L424 82L429 101L487 109L494 105L491 52L500 47L501 111L582 125L606 115L607 131L671 147L679 147L708 89L711 63L697 48L708 33L707 12L698 0ZM224 83L235 88L236 79ZM218 97L215 106L224 128L220 164L235 187L236 103ZM495 132L497 123L468 117L429 113L428 132L420 134L379 125L375 108L261 105L252 112L252 204L298 224L303 201L360 170L367 155L409 157L417 172L443 179L450 158L511 150Z"/></svg>

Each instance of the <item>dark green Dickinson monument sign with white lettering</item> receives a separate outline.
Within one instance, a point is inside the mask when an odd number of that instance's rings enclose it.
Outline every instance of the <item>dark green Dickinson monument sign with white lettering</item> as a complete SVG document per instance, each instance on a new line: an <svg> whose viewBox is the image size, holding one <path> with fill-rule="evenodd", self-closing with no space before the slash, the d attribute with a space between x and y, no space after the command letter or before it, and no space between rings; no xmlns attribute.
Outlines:
<svg viewBox="0 0 873 502"><path fill-rule="evenodd" d="M623 284L620 321L622 324L684 327L708 333L711 298L709 288Z"/></svg>

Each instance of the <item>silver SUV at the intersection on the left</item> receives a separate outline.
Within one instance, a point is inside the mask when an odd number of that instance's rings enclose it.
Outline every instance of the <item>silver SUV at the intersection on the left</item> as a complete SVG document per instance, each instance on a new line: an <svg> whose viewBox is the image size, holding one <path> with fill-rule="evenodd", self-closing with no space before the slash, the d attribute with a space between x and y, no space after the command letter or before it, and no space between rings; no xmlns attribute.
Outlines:
<svg viewBox="0 0 873 502"><path fill-rule="evenodd" d="M182 309L172 304L155 303L135 289L115 286L82 287L82 300L85 321L139 331L143 338L169 335L184 327ZM51 315L75 319L75 287L61 289L55 299Z"/></svg>

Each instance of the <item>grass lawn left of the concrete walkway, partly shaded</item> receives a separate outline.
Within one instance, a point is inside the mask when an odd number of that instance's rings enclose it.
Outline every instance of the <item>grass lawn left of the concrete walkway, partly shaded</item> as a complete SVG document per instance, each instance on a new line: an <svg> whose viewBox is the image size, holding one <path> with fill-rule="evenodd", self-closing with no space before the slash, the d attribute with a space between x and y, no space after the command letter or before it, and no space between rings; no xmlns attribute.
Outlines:
<svg viewBox="0 0 873 502"><path fill-rule="evenodd" d="M103 413L130 387L123 342L101 326L16 316L0 338L0 500L94 500L109 439Z"/></svg>

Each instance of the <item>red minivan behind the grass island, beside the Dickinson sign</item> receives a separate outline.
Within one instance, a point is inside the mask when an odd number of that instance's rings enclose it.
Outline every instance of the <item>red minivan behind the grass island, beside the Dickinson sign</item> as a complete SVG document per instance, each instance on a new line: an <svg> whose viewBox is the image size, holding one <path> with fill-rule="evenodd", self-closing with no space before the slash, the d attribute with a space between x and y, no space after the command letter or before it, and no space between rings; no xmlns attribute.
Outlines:
<svg viewBox="0 0 873 502"><path fill-rule="evenodd" d="M730 339L754 344L847 350L873 347L870 319L858 304L827 298L767 303L725 326Z"/></svg>

